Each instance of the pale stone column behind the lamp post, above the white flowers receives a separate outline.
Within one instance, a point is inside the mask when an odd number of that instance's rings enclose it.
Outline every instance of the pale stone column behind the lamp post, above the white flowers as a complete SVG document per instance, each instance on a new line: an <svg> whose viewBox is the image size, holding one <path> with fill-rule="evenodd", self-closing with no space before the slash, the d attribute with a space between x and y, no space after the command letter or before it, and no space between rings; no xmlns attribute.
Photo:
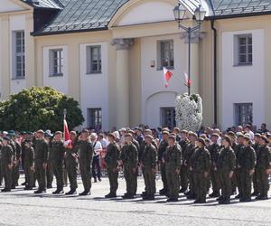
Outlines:
<svg viewBox="0 0 271 226"><path fill-rule="evenodd" d="M200 82L199 41L202 38L203 38L203 33L199 33L199 32L192 33L191 59L190 59L190 61L191 61L191 80L192 80L191 93L199 93L200 92L200 89L199 89L199 82ZM188 34L182 33L181 39L184 40L184 43L188 43ZM188 44L187 44L187 49L188 49ZM189 61L189 59L187 59L187 61ZM187 68L187 71L188 71L188 68Z"/></svg>

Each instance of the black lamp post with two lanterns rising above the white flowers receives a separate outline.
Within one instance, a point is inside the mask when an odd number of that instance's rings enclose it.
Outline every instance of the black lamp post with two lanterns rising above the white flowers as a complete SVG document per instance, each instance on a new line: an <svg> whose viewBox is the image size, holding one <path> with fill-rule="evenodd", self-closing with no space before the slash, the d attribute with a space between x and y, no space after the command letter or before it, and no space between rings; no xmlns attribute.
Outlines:
<svg viewBox="0 0 271 226"><path fill-rule="evenodd" d="M187 33L187 37L188 37L188 80L191 80L191 40L192 40L192 33L197 31L197 30L200 30L201 24L204 21L206 11L201 7L201 5L199 5L199 7L197 7L193 12L194 17L195 17L194 20L197 22L197 24L194 25L194 26L189 26L189 27L186 27L186 26L182 25L182 21L184 19L185 13L186 13L186 9L181 4L175 6L174 9L173 9L173 14L174 14L176 22L178 23L179 28L181 28L182 30L184 30ZM191 94L191 84L190 84L190 82L189 82L189 84L187 84L187 87L188 87L188 95L190 96L190 94Z"/></svg>

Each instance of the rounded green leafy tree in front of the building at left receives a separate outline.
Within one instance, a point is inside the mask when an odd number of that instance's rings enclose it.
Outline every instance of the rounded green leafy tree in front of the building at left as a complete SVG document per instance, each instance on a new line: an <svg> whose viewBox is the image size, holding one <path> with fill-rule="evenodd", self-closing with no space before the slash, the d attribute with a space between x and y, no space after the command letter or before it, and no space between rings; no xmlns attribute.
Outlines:
<svg viewBox="0 0 271 226"><path fill-rule="evenodd" d="M84 121L79 102L56 89L33 87L0 102L0 128L3 130L63 129L63 109L67 109L70 129Z"/></svg>

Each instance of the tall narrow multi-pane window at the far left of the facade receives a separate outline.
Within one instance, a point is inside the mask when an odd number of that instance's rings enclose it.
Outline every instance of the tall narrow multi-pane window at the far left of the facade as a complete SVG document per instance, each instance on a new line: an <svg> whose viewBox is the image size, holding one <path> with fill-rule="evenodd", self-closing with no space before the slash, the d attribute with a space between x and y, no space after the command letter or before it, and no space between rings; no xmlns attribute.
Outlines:
<svg viewBox="0 0 271 226"><path fill-rule="evenodd" d="M24 55L24 32L13 33L13 52L14 52L14 79L25 77L25 55Z"/></svg>

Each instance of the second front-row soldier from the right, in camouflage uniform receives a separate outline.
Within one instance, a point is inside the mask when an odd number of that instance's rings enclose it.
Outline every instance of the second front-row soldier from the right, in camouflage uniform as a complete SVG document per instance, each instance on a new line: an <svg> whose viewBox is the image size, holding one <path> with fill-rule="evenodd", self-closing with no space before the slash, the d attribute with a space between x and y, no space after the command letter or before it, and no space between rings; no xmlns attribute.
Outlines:
<svg viewBox="0 0 271 226"><path fill-rule="evenodd" d="M238 161L240 169L240 202L251 201L251 183L256 165L256 153L251 146L250 137L244 137L244 147Z"/></svg>

